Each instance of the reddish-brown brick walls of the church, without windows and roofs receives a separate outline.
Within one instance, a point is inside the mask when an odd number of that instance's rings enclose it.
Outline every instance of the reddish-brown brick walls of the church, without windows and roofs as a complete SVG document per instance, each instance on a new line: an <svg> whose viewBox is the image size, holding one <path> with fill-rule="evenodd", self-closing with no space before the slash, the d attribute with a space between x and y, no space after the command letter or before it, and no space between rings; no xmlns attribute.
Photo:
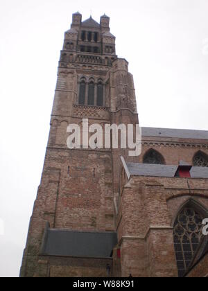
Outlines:
<svg viewBox="0 0 208 291"><path fill-rule="evenodd" d="M46 148L41 184L37 191L28 231L21 276L177 276L173 245L173 223L178 209L194 199L208 209L207 179L131 177L125 175L125 161L142 163L151 148L168 165L180 160L193 163L201 150L208 155L207 140L154 138L142 141L139 157L128 157L128 150L69 150L67 126L82 127L98 123L137 124L137 104L128 62L117 58L115 38L110 34L108 17L101 17L98 54L80 52L85 42L79 14L73 15L71 30L65 33L60 55L51 129ZM107 44L107 50L105 45ZM87 43L93 46L94 43ZM112 47L111 52L108 51ZM88 49L88 48L87 48ZM81 78L102 80L105 85L103 107L78 104ZM188 186L189 185L189 186ZM42 256L41 246L46 222L52 229L76 231L117 231L119 244L112 258L61 258ZM116 256L121 249L121 259ZM202 265L207 266L207 257ZM189 274L200 276L201 265ZM204 274L204 273L203 273Z"/></svg>

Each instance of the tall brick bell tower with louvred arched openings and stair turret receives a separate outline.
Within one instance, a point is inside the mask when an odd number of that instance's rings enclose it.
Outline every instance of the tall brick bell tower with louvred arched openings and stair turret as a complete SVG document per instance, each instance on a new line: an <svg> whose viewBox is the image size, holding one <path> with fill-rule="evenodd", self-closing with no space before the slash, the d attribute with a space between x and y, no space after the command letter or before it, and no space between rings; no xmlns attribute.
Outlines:
<svg viewBox="0 0 208 291"><path fill-rule="evenodd" d="M119 276L116 234L120 156L127 150L67 148L67 126L137 124L128 62L116 56L110 18L73 14L64 35L51 129L21 276ZM113 263L114 262L114 263Z"/></svg>

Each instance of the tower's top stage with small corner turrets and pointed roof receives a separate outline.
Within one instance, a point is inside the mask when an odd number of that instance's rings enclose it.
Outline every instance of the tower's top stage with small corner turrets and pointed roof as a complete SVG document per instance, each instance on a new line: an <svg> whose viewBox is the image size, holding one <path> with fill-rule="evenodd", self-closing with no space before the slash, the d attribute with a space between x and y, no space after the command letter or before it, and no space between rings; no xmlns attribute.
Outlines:
<svg viewBox="0 0 208 291"><path fill-rule="evenodd" d="M71 29L65 33L60 61L92 62L111 66L116 59L116 37L110 33L109 24L110 17L107 15L101 16L99 24L92 16L82 21L80 12L74 13ZM62 66L66 64L62 63Z"/></svg>

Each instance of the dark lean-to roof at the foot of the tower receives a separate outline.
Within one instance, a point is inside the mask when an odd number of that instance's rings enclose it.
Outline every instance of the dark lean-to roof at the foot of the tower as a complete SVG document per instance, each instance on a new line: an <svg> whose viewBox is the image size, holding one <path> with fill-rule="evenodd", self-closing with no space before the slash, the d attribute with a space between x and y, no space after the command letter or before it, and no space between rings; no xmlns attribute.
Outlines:
<svg viewBox="0 0 208 291"><path fill-rule="evenodd" d="M42 254L84 258L110 258L117 244L116 233L46 229Z"/></svg>

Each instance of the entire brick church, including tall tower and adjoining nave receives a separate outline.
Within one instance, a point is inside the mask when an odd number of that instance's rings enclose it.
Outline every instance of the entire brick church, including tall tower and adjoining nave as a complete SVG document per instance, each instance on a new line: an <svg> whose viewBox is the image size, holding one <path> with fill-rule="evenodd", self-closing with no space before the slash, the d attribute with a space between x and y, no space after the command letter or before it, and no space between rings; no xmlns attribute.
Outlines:
<svg viewBox="0 0 208 291"><path fill-rule="evenodd" d="M141 128L141 155L67 146L69 124L139 124L110 18L64 35L22 277L208 276L208 132Z"/></svg>

